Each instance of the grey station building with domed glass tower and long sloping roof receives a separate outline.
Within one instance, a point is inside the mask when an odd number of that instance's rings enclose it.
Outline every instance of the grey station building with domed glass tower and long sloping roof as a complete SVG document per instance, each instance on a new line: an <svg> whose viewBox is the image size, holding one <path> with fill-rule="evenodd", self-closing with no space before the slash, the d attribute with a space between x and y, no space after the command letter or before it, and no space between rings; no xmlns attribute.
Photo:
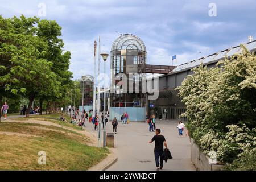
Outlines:
<svg viewBox="0 0 256 182"><path fill-rule="evenodd" d="M249 51L256 52L256 40L243 43L243 45ZM241 46L236 46L176 67L151 65L147 64L146 46L140 38L132 34L119 36L114 41L110 53L110 89L106 94L110 119L114 117L119 119L122 113L127 112L130 121L144 121L147 112L148 114L154 113L156 118L161 115L164 120L185 121L186 118L179 118L179 115L185 111L185 105L177 96L178 91L175 88L180 86L188 75L193 74L192 68L198 67L201 63L208 68L213 68L216 67L218 61L241 52ZM127 80L122 80L124 76L120 73L126 75ZM150 93L143 92L145 87L143 80L148 81L148 78L154 75L157 75L159 80L159 96L155 100L149 100ZM120 82L127 82L127 87ZM104 99L103 95L101 92L101 101Z"/></svg>

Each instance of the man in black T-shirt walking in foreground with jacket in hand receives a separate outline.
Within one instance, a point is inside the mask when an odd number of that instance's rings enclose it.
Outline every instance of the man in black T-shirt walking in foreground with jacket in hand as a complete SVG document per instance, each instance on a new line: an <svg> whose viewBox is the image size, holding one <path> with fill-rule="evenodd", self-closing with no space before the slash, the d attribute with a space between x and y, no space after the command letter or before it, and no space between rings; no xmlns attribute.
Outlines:
<svg viewBox="0 0 256 182"><path fill-rule="evenodd" d="M166 143L166 138L164 138L163 135L160 134L161 130L160 129L156 129L155 130L155 136L150 140L149 143L152 143L155 141L155 149L154 149L154 153L155 153L155 164L156 164L156 170L159 171L160 169L163 168L163 146L166 147L166 149L168 149L167 147L167 143ZM160 164L159 164L159 157L160 157Z"/></svg>

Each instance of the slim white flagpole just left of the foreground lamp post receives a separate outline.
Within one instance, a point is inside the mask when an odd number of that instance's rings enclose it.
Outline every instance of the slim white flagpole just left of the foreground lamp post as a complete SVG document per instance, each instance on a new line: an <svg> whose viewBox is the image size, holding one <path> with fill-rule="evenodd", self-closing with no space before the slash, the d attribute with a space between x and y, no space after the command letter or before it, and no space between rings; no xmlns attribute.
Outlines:
<svg viewBox="0 0 256 182"><path fill-rule="evenodd" d="M100 68L101 68L101 37L98 37L98 95L97 95L97 114L100 120ZM98 122L98 147L101 147L101 122Z"/></svg>

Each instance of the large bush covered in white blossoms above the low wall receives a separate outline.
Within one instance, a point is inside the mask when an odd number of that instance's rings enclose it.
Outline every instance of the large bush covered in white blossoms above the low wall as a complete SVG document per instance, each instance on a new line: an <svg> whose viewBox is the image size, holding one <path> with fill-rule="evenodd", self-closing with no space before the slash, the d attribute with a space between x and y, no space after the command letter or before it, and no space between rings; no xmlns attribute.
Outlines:
<svg viewBox="0 0 256 182"><path fill-rule="evenodd" d="M256 143L256 56L242 48L243 53L219 61L221 68L194 68L177 88L192 138L204 154L216 151L218 160L236 163L229 169L239 168Z"/></svg>

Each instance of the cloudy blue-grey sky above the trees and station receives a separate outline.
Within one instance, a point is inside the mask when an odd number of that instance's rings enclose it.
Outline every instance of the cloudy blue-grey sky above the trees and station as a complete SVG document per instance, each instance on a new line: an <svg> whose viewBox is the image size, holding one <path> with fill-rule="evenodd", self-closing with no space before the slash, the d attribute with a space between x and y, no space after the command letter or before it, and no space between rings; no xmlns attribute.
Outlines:
<svg viewBox="0 0 256 182"><path fill-rule="evenodd" d="M23 14L60 24L64 51L72 56L73 80L93 75L98 36L101 52L110 53L120 34L137 35L146 45L147 64L160 65L171 65L172 55L177 55L179 65L248 42L248 36L256 39L255 0L0 0L0 4L5 18ZM103 68L101 60L101 72ZM106 69L109 73L110 58Z"/></svg>

